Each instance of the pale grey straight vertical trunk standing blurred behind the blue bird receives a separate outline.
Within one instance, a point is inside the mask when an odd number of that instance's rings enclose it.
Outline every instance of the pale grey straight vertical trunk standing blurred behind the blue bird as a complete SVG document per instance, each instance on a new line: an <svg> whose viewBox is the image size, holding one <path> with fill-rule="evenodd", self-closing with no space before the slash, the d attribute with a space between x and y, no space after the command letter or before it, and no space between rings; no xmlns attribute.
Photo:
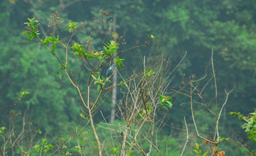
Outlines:
<svg viewBox="0 0 256 156"><path fill-rule="evenodd" d="M113 28L113 33L116 34L117 33L117 29L115 27L116 25L116 17L114 16L113 18L113 23L114 23L114 28ZM114 35L115 37L115 35ZM114 41L116 41L117 38L114 38ZM117 53L117 52L116 52ZM116 55L114 54L113 57L115 57ZM113 60L113 63L115 63L115 61ZM117 72L113 73L113 86L117 85ZM115 106L117 104L117 87L114 87L112 89L112 109L111 109L111 115L110 115L110 123L114 123L114 113L115 113Z"/></svg>

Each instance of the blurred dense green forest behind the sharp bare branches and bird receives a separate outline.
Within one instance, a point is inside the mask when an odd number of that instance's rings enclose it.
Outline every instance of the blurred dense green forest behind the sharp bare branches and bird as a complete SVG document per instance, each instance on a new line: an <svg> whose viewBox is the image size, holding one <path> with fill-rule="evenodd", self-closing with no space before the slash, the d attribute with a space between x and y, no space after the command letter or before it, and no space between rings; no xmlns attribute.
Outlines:
<svg viewBox="0 0 256 156"><path fill-rule="evenodd" d="M164 58L166 68L169 65L174 69L187 52L171 78L171 87L166 91L168 96L173 95L174 90L182 88L183 81L190 79L191 75L200 78L208 73L208 79L213 77L213 74L210 74L213 50L220 104L218 109L225 101L225 90L230 91L235 87L228 97L219 122L220 135L222 138L228 138L228 141L220 143L218 149L225 150L226 155L250 155L250 151L255 149L255 144L250 143L245 130L240 127L242 121L229 116L228 113L235 111L248 114L256 107L255 8L256 1L252 0L2 0L0 4L0 107L4 109L0 110L0 126L8 128L9 123L12 123L18 133L18 130L22 129L23 117L26 114L26 121L31 123L33 130L36 130L35 138L39 140L35 139L33 149L36 149L34 145L38 144L41 138L46 138L48 143L55 147L60 145L56 143L62 140L71 140L65 144L68 147L63 152L67 154L69 151L72 153L70 155L82 155L78 154L75 143L84 140L79 136L77 140L70 139L70 135L75 130L82 130L87 134L87 143L83 145L85 155L97 155L92 154L97 153L97 147L90 126L83 128L87 120L80 116L83 106L77 91L64 74L60 79L60 65L50 52L43 48L43 45L38 44L38 41L28 43L28 37L23 35L26 27L23 23L28 22L27 18L36 18L40 22L38 30L41 35L49 35L52 33L49 23L53 19L50 16L58 11L60 22L63 22L59 27L60 35L68 35L68 32L64 31L68 26L67 23L78 22L83 27L75 33L75 40L86 45L92 35L91 49L100 51L102 40L105 38L105 34L102 33L100 11L107 11L111 16L107 18L110 24L106 25L106 30L107 26L114 26L116 29L114 35L125 38L125 40L117 40L120 43L119 50L143 45L145 41L151 40L151 43L145 47L132 48L120 55L124 58L124 66L119 69L119 72L124 77L143 69L143 57L156 62ZM111 38L110 35L108 39ZM55 53L63 52L57 46ZM64 57L65 53L60 54L60 58ZM77 61L70 60L70 64L73 65L70 72L80 70L82 64ZM151 67L154 69L154 63L151 63ZM82 77L87 77L87 74L85 72ZM117 79L122 80L120 77ZM81 80L80 84L83 81ZM84 83L86 86L85 81ZM214 81L210 81L206 88L208 104L215 104L213 102ZM117 87L117 101L122 99L123 90L122 87ZM30 94L16 103L20 91L28 91ZM92 88L92 93L93 91L96 93L97 87ZM97 113L93 117L97 128L102 126L102 122L110 121L111 94L110 91L102 99L102 104L97 107ZM93 97L92 94L92 99L96 98L97 96ZM176 94L172 96L173 107L168 110L168 113L163 114L168 120L166 120L166 126L161 129L161 137L171 136L167 147L169 153L166 155L181 154L186 141L184 116L188 130L196 133L191 109L187 102L189 102L188 98ZM210 116L207 109L200 104L195 107L194 116L198 130L204 133L206 138L212 138L211 134L215 130L212 123L216 120L215 116ZM117 113L114 123L122 124L118 116ZM158 116L161 117L161 111ZM98 133L102 137L110 135L104 130L99 130ZM190 137L184 155L196 155L196 152L193 152L195 143L198 143L204 152L210 149L207 145L203 145L204 140L196 138L193 134ZM75 140L75 143L72 140ZM33 149L30 154L38 155ZM110 147L108 150L114 151L114 149ZM53 152L51 147L48 150ZM108 155L114 155L113 151ZM17 150L16 153L21 151Z"/></svg>

